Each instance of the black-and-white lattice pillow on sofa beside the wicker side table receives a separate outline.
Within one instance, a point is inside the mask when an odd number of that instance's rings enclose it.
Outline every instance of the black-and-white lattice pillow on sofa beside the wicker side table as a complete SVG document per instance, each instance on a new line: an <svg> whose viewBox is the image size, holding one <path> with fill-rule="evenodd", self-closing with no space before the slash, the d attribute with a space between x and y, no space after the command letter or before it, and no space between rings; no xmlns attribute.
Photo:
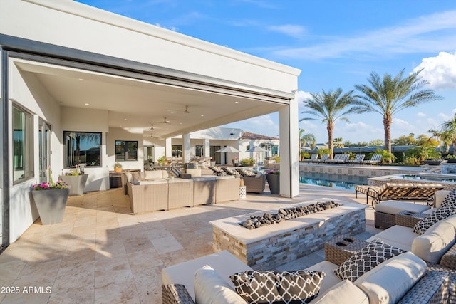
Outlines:
<svg viewBox="0 0 456 304"><path fill-rule="evenodd" d="M368 246L361 249L361 251L358 251L358 253L341 263L341 266L334 269L334 273L341 280L354 282L378 264L404 252L402 249L390 246L380 239L375 239Z"/></svg>

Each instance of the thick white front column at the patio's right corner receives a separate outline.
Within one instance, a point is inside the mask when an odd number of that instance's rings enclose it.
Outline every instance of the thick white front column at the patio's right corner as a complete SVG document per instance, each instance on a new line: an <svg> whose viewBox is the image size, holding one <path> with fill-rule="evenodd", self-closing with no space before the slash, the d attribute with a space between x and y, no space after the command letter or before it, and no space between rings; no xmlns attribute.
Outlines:
<svg viewBox="0 0 456 304"><path fill-rule="evenodd" d="M280 194L299 195L298 100L279 111L280 122Z"/></svg>

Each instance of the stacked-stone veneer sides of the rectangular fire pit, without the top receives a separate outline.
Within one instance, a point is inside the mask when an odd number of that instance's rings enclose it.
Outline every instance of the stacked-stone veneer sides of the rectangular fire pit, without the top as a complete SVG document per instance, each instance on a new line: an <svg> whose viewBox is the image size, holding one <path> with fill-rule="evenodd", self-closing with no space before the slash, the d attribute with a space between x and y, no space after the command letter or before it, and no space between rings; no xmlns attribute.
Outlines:
<svg viewBox="0 0 456 304"><path fill-rule="evenodd" d="M280 226L276 224L274 226ZM295 261L323 248L326 241L340 235L355 235L365 231L364 209L347 211L326 221L304 225L294 231L285 231L246 245L214 226L214 251L228 250L256 270L271 270ZM261 227L263 229L266 227ZM246 234L249 230L246 229Z"/></svg>

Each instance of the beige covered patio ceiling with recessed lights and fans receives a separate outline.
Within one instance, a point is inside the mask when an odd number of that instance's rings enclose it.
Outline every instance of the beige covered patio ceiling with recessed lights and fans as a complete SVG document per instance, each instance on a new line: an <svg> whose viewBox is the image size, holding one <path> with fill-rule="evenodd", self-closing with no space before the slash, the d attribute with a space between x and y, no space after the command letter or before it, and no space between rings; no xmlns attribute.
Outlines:
<svg viewBox="0 0 456 304"><path fill-rule="evenodd" d="M261 93L261 88L247 91L242 84L236 88L222 80L217 85L182 85L116 70L100 73L33 61L16 65L38 79L60 105L108 110L109 127L144 132L147 137L172 137L257 117L276 112L289 101L280 94Z"/></svg>

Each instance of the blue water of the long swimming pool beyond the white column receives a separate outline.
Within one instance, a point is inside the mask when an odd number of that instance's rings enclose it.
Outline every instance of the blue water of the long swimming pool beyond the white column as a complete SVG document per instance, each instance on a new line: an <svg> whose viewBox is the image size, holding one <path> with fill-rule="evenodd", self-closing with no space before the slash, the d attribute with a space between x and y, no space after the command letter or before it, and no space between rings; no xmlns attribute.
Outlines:
<svg viewBox="0 0 456 304"><path fill-rule="evenodd" d="M341 174L301 173L299 183L354 190L357 184L368 184L368 179L366 177L353 177Z"/></svg>

